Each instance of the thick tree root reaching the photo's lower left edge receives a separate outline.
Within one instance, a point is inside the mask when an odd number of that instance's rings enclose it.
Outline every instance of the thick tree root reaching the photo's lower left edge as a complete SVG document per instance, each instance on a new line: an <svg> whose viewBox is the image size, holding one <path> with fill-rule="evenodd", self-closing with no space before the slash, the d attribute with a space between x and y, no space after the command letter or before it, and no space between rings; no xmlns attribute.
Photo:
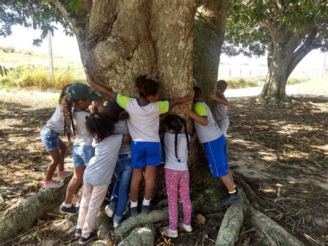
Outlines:
<svg viewBox="0 0 328 246"><path fill-rule="evenodd" d="M22 199L1 213L0 240L12 238L22 230L30 229L35 220L64 201L66 185L46 189Z"/></svg>

